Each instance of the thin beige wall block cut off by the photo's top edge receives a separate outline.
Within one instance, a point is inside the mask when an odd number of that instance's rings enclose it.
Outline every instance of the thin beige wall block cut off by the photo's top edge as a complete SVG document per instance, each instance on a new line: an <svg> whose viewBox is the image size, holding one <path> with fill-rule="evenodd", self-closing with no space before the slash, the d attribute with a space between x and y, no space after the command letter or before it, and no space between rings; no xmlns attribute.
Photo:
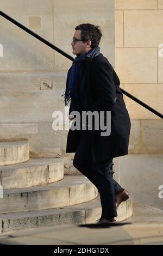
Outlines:
<svg viewBox="0 0 163 256"><path fill-rule="evenodd" d="M115 9L157 9L157 0L115 0Z"/></svg>

